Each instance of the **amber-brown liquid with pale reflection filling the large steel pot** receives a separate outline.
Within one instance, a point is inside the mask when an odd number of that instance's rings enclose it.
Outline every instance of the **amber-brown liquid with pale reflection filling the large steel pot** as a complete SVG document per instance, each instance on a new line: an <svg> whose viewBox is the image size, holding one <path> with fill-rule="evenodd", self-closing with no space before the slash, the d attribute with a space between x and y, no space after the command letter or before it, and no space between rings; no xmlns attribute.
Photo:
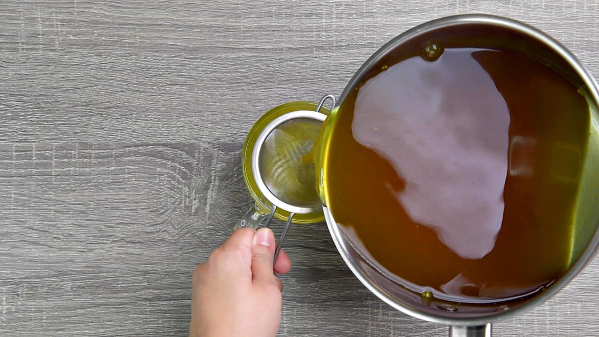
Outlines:
<svg viewBox="0 0 599 337"><path fill-rule="evenodd" d="M438 298L494 302L561 276L588 139L577 86L476 43L377 69L331 122L335 221L381 270Z"/></svg>

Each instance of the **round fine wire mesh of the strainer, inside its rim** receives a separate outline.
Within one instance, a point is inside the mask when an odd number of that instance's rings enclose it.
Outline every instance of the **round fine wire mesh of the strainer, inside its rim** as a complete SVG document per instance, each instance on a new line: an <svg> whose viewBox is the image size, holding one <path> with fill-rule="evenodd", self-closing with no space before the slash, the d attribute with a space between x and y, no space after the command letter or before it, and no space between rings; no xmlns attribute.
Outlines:
<svg viewBox="0 0 599 337"><path fill-rule="evenodd" d="M277 198L293 206L320 204L311 151L321 125L310 118L291 119L275 128L260 149L262 180Z"/></svg>

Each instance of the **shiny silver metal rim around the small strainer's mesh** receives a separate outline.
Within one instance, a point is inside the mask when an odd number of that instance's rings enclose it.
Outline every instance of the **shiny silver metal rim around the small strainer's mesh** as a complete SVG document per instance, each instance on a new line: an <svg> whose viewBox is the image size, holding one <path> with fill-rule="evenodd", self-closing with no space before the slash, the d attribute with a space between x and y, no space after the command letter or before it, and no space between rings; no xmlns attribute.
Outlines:
<svg viewBox="0 0 599 337"><path fill-rule="evenodd" d="M298 119L298 118L309 118L309 119L315 119L316 121L324 122L326 119L326 115L324 113L316 112L316 111L297 110L294 112L285 113L285 115L282 115L282 116L279 116L279 117L273 119L273 121L268 123L267 126L264 127L264 129L262 129L262 131L260 131L260 133L258 134L258 137L256 138L256 142L254 143L254 146L252 149L252 173L254 176L254 181L256 182L256 185L258 186L259 191L274 206L277 206L278 208L286 210L291 213L306 214L306 213L313 213L313 212L317 212L317 211L321 210L322 204L320 204L319 206L314 206L314 207L298 207L298 206L294 206L292 204L288 204L285 201L282 201L279 198L277 198L276 195L274 195L273 192L271 192L270 189L268 189L268 187L264 183L264 180L262 180L262 175L260 173L260 166L259 166L259 160L258 160L260 151L262 149L262 145L264 145L264 142L267 139L268 135L270 135L270 133L275 128L277 128L279 125L281 125L285 122L291 121L292 119ZM316 186L314 186L314 188L316 188Z"/></svg>

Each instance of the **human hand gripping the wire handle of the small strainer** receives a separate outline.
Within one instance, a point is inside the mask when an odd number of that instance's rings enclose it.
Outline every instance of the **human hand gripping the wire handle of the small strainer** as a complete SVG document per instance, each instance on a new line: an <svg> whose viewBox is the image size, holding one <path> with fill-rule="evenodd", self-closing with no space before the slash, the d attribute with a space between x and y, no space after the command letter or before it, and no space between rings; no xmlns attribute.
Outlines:
<svg viewBox="0 0 599 337"><path fill-rule="evenodd" d="M273 273L274 234L268 228L234 231L193 272L189 336L276 336L283 285ZM291 261L283 250L274 271Z"/></svg>

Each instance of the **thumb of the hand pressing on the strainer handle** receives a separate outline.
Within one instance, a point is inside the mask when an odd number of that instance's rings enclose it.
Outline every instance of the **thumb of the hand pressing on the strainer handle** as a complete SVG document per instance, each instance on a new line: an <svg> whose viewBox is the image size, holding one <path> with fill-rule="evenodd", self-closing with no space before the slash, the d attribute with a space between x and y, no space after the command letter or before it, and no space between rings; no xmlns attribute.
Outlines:
<svg viewBox="0 0 599 337"><path fill-rule="evenodd" d="M252 279L254 283L271 282L274 279L274 233L260 228L252 239Z"/></svg>

